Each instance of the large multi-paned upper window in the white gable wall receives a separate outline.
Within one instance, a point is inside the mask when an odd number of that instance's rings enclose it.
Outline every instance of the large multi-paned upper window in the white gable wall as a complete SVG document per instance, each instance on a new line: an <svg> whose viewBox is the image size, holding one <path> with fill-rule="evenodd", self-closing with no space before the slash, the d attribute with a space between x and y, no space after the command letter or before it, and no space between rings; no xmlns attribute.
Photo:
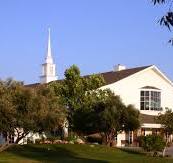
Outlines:
<svg viewBox="0 0 173 163"><path fill-rule="evenodd" d="M156 90L142 90L140 95L141 110L156 110L161 108L161 92Z"/></svg>

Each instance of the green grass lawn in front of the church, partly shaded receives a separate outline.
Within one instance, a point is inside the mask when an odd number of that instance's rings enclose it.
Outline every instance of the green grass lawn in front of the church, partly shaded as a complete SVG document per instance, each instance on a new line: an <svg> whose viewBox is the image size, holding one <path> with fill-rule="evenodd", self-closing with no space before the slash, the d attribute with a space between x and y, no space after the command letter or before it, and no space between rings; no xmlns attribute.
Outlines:
<svg viewBox="0 0 173 163"><path fill-rule="evenodd" d="M0 162L123 162L123 163L167 163L171 158L154 158L116 148L89 145L24 145L14 146L0 153Z"/></svg>

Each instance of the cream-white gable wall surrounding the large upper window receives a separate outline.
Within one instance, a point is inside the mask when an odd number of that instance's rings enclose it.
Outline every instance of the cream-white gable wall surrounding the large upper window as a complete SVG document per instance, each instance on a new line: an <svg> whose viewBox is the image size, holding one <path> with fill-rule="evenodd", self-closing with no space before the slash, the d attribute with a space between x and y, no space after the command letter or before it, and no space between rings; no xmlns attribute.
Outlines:
<svg viewBox="0 0 173 163"><path fill-rule="evenodd" d="M173 86L152 68L145 69L113 84L103 86L101 89L111 89L116 95L121 97L126 105L133 104L140 110L140 91L145 86L159 88L161 90L161 107L163 109L165 107L173 108ZM150 115L159 113L159 111L149 110L140 112Z"/></svg>

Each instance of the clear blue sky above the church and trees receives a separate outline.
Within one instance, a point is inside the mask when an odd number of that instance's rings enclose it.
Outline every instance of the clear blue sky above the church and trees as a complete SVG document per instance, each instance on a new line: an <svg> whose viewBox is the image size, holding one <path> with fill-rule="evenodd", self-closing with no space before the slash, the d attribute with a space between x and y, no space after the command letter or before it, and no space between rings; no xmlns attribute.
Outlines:
<svg viewBox="0 0 173 163"><path fill-rule="evenodd" d="M150 0L1 0L0 78L39 82L50 27L59 78L72 64L83 75L155 64L173 79L164 13Z"/></svg>

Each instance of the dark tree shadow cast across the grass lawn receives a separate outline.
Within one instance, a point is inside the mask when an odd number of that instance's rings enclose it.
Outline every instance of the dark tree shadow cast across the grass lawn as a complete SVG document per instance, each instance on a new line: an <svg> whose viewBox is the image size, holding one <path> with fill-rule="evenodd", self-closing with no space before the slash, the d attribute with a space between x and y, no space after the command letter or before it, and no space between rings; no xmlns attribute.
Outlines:
<svg viewBox="0 0 173 163"><path fill-rule="evenodd" d="M47 146L47 145L24 145L13 146L6 152L12 153L15 156L23 157L33 161L46 161L46 162L89 162L89 163L107 163L104 160L96 160L85 157L79 157L77 153L74 153L61 146Z"/></svg>

